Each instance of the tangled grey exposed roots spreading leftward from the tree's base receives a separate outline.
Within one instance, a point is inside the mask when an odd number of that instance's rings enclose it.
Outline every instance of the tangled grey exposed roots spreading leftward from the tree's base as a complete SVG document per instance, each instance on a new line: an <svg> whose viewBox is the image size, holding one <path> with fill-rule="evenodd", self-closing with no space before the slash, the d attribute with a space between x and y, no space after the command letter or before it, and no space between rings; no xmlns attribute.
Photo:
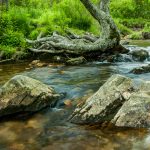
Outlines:
<svg viewBox="0 0 150 150"><path fill-rule="evenodd" d="M64 37L53 33L51 37L43 37L34 41L27 40L27 42L32 44L32 48L29 50L34 53L86 55L94 52L103 53L114 48L118 49L115 40L104 40L91 35L80 37L69 34Z"/></svg>

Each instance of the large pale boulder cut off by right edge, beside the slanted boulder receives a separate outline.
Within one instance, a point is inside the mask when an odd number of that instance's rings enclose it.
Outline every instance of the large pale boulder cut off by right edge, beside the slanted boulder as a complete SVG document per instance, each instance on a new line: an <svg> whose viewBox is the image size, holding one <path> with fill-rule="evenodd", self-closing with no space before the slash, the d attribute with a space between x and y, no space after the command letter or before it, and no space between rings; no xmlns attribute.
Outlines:
<svg viewBox="0 0 150 150"><path fill-rule="evenodd" d="M119 127L150 127L150 82L144 82L126 101L112 123Z"/></svg>

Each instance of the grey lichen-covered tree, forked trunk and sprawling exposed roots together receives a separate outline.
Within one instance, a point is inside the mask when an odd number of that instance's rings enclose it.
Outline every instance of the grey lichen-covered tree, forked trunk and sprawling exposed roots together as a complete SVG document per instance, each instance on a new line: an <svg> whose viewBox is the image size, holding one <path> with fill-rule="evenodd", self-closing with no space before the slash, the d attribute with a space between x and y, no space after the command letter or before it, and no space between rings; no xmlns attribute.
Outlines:
<svg viewBox="0 0 150 150"><path fill-rule="evenodd" d="M30 48L36 53L53 53L53 54L78 54L83 55L94 52L113 51L114 49L122 50L120 45L119 31L110 15L110 0L101 0L100 7L94 5L90 0L80 0L90 14L99 22L101 26L101 35L99 38L85 35L63 37L54 33L51 37L37 38L35 41L27 40L28 43L40 46Z"/></svg>

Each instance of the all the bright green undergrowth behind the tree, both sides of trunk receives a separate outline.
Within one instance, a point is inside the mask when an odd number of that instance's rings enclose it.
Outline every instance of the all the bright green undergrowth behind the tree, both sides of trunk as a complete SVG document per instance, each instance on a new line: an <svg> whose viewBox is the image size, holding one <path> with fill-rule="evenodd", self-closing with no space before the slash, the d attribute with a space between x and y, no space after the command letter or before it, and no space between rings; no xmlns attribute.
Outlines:
<svg viewBox="0 0 150 150"><path fill-rule="evenodd" d="M92 2L99 5L99 0ZM41 32L100 34L99 24L80 0L10 0L8 11L1 8L0 45L10 54L26 47L25 38L36 39ZM150 0L112 0L110 10L122 35L138 39L140 32L134 30L150 32Z"/></svg>

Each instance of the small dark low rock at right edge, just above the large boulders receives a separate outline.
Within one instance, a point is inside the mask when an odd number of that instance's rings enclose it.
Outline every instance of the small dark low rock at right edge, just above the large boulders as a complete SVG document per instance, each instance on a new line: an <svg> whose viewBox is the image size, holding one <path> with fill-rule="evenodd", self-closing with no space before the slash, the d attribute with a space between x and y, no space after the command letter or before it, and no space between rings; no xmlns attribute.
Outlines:
<svg viewBox="0 0 150 150"><path fill-rule="evenodd" d="M134 68L130 71L130 73L134 73L134 74L143 74L143 73L149 73L149 72L150 72L150 64L148 64L147 66Z"/></svg>

